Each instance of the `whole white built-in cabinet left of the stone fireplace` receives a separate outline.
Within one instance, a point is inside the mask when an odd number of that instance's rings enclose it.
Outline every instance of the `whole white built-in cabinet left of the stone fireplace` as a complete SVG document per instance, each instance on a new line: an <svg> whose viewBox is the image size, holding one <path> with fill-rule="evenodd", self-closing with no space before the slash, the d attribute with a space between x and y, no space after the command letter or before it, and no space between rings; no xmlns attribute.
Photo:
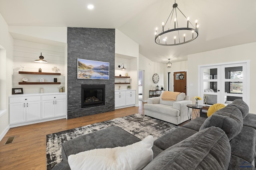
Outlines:
<svg viewBox="0 0 256 170"><path fill-rule="evenodd" d="M10 127L66 118L66 93L9 96Z"/></svg>

